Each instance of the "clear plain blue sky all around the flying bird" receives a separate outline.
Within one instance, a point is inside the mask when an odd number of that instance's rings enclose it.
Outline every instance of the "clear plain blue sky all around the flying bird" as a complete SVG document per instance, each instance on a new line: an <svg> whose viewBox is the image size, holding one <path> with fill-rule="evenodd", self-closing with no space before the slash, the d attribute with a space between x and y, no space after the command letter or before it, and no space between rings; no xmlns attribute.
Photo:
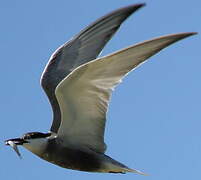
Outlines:
<svg viewBox="0 0 201 180"><path fill-rule="evenodd" d="M137 1L141 2L141 1ZM142 1L102 55L169 33L201 32L201 1ZM201 168L201 38L166 48L124 79L113 94L107 154L150 176L62 169L4 140L49 130L52 112L39 79L54 50L100 16L131 0L13 0L0 6L0 179L189 180Z"/></svg>

